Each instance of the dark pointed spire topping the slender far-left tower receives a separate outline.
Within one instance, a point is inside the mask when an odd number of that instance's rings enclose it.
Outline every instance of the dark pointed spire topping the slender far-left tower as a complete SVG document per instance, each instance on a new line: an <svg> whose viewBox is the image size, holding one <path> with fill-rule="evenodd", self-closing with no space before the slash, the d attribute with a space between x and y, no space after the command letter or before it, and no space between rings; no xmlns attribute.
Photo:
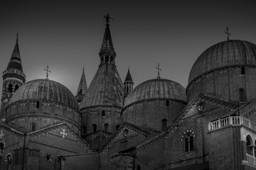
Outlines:
<svg viewBox="0 0 256 170"><path fill-rule="evenodd" d="M18 33L16 38L16 45L14 47L14 51L11 54L11 59L9 61L7 69L19 69L23 71L22 64L21 64L21 54L18 48Z"/></svg>

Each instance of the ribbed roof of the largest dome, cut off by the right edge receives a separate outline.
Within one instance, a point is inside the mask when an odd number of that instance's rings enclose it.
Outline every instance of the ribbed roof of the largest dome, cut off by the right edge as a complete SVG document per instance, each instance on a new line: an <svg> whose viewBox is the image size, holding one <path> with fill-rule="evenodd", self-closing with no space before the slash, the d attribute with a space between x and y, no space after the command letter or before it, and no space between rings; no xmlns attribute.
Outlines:
<svg viewBox="0 0 256 170"><path fill-rule="evenodd" d="M236 65L256 66L255 44L242 40L229 40L209 47L193 64L188 84L207 72Z"/></svg>

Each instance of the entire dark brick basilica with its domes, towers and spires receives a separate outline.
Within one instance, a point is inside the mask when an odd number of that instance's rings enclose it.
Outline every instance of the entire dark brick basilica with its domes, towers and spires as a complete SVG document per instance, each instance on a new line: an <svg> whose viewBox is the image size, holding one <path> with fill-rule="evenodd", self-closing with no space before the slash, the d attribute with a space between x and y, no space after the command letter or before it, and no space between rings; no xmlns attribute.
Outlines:
<svg viewBox="0 0 256 170"><path fill-rule="evenodd" d="M75 95L48 67L26 82L17 36L2 74L0 169L256 169L255 44L228 35L202 49L186 89L159 75L134 87L105 20L97 72L87 87L82 70Z"/></svg>

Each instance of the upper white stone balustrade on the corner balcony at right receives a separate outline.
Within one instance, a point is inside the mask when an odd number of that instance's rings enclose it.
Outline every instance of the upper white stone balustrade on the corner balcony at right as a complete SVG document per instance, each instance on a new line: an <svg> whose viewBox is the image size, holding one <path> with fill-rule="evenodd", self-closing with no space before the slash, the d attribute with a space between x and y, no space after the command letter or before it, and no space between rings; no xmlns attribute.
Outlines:
<svg viewBox="0 0 256 170"><path fill-rule="evenodd" d="M249 119L242 116L228 116L211 121L208 123L208 130L215 130L228 125L245 125L246 127L256 131L255 125L252 124Z"/></svg>

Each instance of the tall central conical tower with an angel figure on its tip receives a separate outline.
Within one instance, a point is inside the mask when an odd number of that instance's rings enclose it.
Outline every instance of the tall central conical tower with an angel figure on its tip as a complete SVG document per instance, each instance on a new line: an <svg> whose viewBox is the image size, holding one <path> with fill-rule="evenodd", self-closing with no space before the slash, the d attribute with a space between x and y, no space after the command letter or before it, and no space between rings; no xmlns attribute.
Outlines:
<svg viewBox="0 0 256 170"><path fill-rule="evenodd" d="M100 65L80 103L82 137L100 149L122 123L124 84L115 65L116 52L107 14L105 34L100 48Z"/></svg>

